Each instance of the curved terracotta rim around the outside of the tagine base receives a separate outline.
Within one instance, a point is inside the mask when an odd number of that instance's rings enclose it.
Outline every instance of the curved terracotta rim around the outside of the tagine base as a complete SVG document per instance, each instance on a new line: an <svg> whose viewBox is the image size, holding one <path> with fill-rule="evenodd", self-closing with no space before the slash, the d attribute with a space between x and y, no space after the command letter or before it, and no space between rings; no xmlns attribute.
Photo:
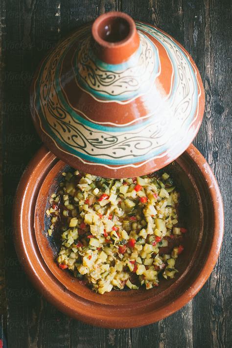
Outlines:
<svg viewBox="0 0 232 348"><path fill-rule="evenodd" d="M158 310L152 313L150 316L143 316L142 320L134 320L133 323L128 320L128 318L122 318L122 321L116 322L115 317L105 317L101 314L95 314L95 318L93 318L91 313L85 311L81 308L76 309L73 312L73 308L68 304L64 304L62 298L56 292L51 292L49 288L46 286L46 280L41 279L36 269L33 267L33 262L31 262L30 257L27 252L27 247L25 241L23 240L23 208L25 197L28 195L28 186L29 182L33 180L33 173L35 172L35 168L38 167L42 161L46 159L47 166L49 163L51 164L54 161L54 155L42 147L34 158L31 160L29 165L27 166L26 171L23 173L23 176L20 180L17 192L16 199L17 201L22 202L21 205L16 205L13 211L13 227L14 227L14 244L17 251L17 255L19 260L21 261L24 271L30 277L30 280L34 284L34 286L43 293L43 296L50 301L53 305L55 305L59 310L64 312L66 315L73 317L74 319L81 319L81 321L92 324L95 326L101 326L105 328L132 328L147 325L150 323L155 323L159 320L166 318L167 316L173 314L177 310L181 309L188 301L190 301L203 287L207 279L209 278L210 273L212 272L221 248L222 239L223 239L223 229L224 229L224 211L223 211L223 203L221 199L221 194L219 191L219 187L216 181L214 174L212 173L209 164L206 159L202 156L202 154L191 144L188 149L186 149L186 153L191 159L196 163L198 169L200 170L202 176L208 182L209 195L211 198L212 210L214 214L214 233L212 237L211 246L209 249L209 254L206 258L205 264L203 265L201 271L199 272L197 278L191 284L182 295L175 298L171 303L167 303L167 305L162 306ZM57 158L58 160L58 158ZM45 174L46 175L46 174ZM209 185L210 183L210 185ZM36 186L36 185L35 185ZM30 192L31 194L31 192ZM31 199L29 202L29 208L26 211L28 216L30 216L33 199L33 194L31 194ZM28 204L27 204L28 205ZM25 214L24 214L25 215ZM28 242L28 241L27 241ZM30 241L29 241L30 242ZM37 246L38 248L38 246ZM39 252L40 254L40 252ZM41 254L40 254L41 255ZM54 283L56 281L55 277L49 272L44 260L42 262L38 259L36 255L37 266L43 268L44 273L50 278L50 280ZM67 291L67 295L69 292ZM141 325L142 322L142 325Z"/></svg>

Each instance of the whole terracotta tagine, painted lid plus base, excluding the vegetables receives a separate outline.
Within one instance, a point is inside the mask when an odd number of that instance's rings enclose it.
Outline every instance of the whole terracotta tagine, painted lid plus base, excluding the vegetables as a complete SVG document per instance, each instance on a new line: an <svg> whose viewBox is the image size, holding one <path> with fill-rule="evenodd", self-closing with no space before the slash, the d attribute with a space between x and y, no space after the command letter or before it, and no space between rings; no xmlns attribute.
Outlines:
<svg viewBox="0 0 232 348"><path fill-rule="evenodd" d="M15 246L31 281L61 311L103 327L142 326L177 311L204 285L223 236L217 182L189 146L204 102L199 72L186 50L162 30L120 12L73 32L41 63L30 104L50 151L39 150L19 184ZM63 172L71 166L122 178L166 165L181 192L188 230L175 278L150 290L99 295L57 267L60 240L47 234L46 209Z"/></svg>

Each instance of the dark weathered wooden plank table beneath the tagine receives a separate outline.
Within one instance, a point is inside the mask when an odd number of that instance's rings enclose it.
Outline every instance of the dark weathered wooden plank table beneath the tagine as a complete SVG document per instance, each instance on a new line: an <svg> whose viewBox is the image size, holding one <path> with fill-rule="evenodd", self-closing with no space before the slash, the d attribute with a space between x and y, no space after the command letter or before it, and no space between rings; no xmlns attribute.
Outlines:
<svg viewBox="0 0 232 348"><path fill-rule="evenodd" d="M1 0L2 206L7 302L3 322L10 348L231 347L229 4L229 0ZM127 330L102 329L74 321L47 303L21 269L11 227L17 184L41 146L29 112L29 85L35 68L67 32L111 10L124 11L135 19L157 25L184 45L195 60L205 87L206 107L194 145L217 177L226 218L219 261L200 293L171 317Z"/></svg>

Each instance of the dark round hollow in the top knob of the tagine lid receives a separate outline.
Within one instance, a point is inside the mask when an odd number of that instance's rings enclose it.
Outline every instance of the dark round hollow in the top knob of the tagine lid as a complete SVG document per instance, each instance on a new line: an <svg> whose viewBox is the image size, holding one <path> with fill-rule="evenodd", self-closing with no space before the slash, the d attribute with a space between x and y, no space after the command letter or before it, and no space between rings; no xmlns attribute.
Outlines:
<svg viewBox="0 0 232 348"><path fill-rule="evenodd" d="M121 17L107 17L98 27L99 37L107 42L123 41L130 33L130 24Z"/></svg>

